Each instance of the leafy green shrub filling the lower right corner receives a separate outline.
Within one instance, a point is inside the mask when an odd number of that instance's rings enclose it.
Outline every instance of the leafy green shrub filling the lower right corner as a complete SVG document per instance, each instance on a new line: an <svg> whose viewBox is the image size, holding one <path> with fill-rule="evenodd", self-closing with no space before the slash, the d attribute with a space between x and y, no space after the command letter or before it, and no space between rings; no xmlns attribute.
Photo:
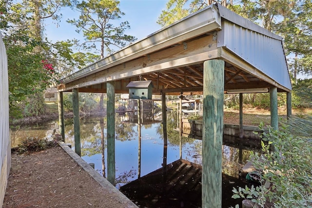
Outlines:
<svg viewBox="0 0 312 208"><path fill-rule="evenodd" d="M260 124L260 130L264 130ZM312 146L305 140L287 133L286 127L275 131L268 126L262 134L263 154L251 155L254 167L262 174L258 188L234 189L233 197L253 199L261 207L312 207ZM270 150L273 146L273 151ZM265 187L270 182L271 187Z"/></svg>

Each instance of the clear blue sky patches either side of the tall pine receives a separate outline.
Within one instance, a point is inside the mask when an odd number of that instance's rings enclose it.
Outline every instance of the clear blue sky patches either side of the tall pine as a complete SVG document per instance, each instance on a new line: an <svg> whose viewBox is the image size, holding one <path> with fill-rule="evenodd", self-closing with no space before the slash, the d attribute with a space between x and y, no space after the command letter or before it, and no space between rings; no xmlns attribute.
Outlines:
<svg viewBox="0 0 312 208"><path fill-rule="evenodd" d="M166 8L167 2L168 0L120 0L119 8L121 12L125 13L121 21L128 21L131 27L125 34L141 40L161 29L156 21L161 11ZM55 22L45 22L45 34L48 40L55 42L76 38L82 41L83 37L75 31L76 27L66 22L68 19L78 19L78 12L65 8L60 13L63 17L58 27Z"/></svg>

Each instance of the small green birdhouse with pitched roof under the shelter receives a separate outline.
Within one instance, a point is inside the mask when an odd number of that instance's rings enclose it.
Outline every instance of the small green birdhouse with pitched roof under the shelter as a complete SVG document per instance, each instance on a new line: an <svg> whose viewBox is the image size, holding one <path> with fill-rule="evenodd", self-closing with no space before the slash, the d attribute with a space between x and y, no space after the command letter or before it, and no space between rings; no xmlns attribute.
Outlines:
<svg viewBox="0 0 312 208"><path fill-rule="evenodd" d="M129 99L152 99L152 81L132 81L129 87Z"/></svg>

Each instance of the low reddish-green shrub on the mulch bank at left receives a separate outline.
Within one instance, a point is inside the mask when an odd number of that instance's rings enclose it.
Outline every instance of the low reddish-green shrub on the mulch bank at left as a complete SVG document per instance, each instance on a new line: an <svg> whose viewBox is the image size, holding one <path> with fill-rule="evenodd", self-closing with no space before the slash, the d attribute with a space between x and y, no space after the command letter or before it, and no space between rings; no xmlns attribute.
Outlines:
<svg viewBox="0 0 312 208"><path fill-rule="evenodd" d="M20 154L27 152L41 151L50 147L57 146L55 141L48 141L46 138L27 137L21 141L18 152Z"/></svg>

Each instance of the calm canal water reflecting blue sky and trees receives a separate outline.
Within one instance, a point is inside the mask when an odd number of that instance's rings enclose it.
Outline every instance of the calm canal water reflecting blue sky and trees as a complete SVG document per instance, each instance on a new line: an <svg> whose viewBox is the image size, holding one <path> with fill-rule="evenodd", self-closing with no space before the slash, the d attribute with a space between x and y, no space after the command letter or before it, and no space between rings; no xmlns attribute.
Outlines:
<svg viewBox="0 0 312 208"><path fill-rule="evenodd" d="M180 158L179 133L176 131L176 111L167 113L168 148L167 164ZM51 138L57 121L46 124L20 126L11 131L11 146L30 136ZM80 120L81 157L87 163L94 163L95 169L106 176L106 117L84 117ZM161 114L143 116L141 121L141 139L138 137L137 115L133 112L116 114L116 187L119 189L136 179L162 167L164 143ZM101 138L104 138L104 153ZM75 150L73 119L65 119L65 142ZM229 177L239 178L239 169L246 164L250 148L238 144L224 143L222 147L222 172ZM139 156L140 154L140 156ZM182 159L201 165L202 141L192 138L182 139ZM104 167L104 168L103 168ZM103 172L104 170L104 172ZM104 174L103 174L104 173ZM242 184L244 186L244 184ZM229 193L232 196L232 193ZM235 205L232 205L233 207Z"/></svg>

